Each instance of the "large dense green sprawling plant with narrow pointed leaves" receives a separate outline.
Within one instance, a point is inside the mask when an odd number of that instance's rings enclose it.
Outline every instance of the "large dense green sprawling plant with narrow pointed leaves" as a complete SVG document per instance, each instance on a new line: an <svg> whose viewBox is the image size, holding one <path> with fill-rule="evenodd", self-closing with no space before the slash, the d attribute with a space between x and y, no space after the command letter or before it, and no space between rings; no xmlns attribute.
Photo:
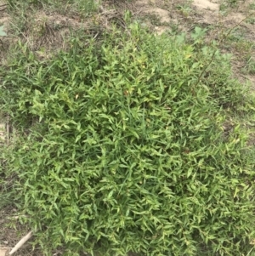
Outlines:
<svg viewBox="0 0 255 256"><path fill-rule="evenodd" d="M8 173L44 251L247 252L254 152L240 128L223 131L224 109L246 102L229 59L214 53L205 70L214 49L136 24L77 38L54 60L20 45L1 70L20 137Z"/></svg>

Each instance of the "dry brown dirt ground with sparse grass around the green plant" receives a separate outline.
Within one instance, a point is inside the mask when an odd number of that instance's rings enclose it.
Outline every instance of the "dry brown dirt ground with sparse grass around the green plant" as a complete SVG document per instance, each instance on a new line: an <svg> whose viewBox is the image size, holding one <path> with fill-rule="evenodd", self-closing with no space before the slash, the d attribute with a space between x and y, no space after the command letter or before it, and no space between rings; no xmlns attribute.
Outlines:
<svg viewBox="0 0 255 256"><path fill-rule="evenodd" d="M189 34L195 26L207 28L207 42L220 41L228 34L229 37L222 40L220 47L222 51L233 54L235 76L242 82L249 81L255 88L255 0L111 0L104 2L99 11L89 16L89 19L83 19L72 10L63 14L58 10L50 12L41 9L33 14L31 20L26 20L29 26L25 26L19 37L38 56L48 58L53 51L67 47L64 38L68 37L70 26L73 29L82 26L90 32L93 32L93 27L109 28L111 20L118 20L122 26L122 14L127 9L133 14L133 19L141 20L157 34L169 32L171 35L173 32L182 31ZM5 26L8 36L0 38L0 65L7 57L5 53L8 45L17 42L19 38L12 36L14 17L9 14L6 3L0 0L0 26L2 25ZM42 30L47 33L42 34ZM42 36L38 37L40 33ZM247 66L249 70L245 71ZM4 131L6 118L1 117L2 143L6 143L8 137ZM19 218L15 216L13 206L0 207L0 256L8 255L10 248L29 231L17 219ZM9 226L10 223L15 224L16 229ZM31 244L27 243L15 255L39 256L42 253L37 249L32 250ZM61 255L61 252L54 252L53 255Z"/></svg>

